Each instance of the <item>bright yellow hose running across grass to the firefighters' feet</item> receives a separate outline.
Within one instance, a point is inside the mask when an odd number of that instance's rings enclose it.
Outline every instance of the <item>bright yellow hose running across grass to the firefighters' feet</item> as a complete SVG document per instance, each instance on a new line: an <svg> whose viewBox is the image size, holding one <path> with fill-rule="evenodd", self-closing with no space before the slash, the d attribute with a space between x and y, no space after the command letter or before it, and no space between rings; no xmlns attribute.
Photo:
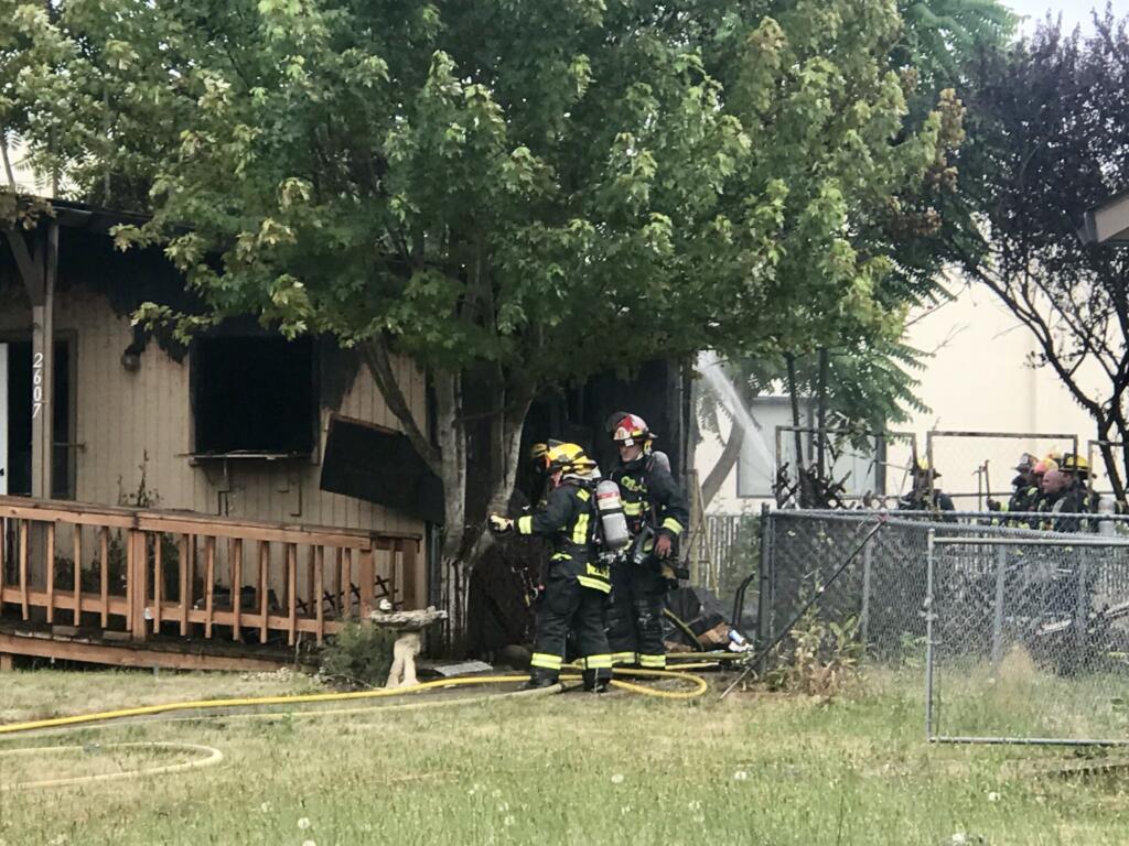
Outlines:
<svg viewBox="0 0 1129 846"><path fill-rule="evenodd" d="M700 653L694 658L701 658ZM701 676L693 676L688 672L675 670L644 670L615 669L615 673L640 676L655 679L672 679L690 685L689 690L657 690L645 685L637 685L630 681L613 679L612 686L644 696L656 696L663 699L693 699L704 694L709 686ZM121 708L117 711L103 711L93 714L76 714L73 716L59 716L47 720L32 720L24 723L9 723L0 725L0 735L17 734L21 732L37 731L41 729L59 729L91 723L102 723L110 720L121 720L125 717L148 716L151 714L166 714L174 711L205 711L211 708L244 708L260 707L266 705L298 705L321 702L351 702L357 699L380 699L393 696L405 696L423 690L437 688L463 687L470 685L511 685L525 681L525 676L469 676L465 678L437 679L435 681L423 681L411 687L384 688L378 690L355 690L336 694L297 694L291 696L259 696L231 699L198 699L194 702L170 702L161 705L142 705L132 708ZM579 676L563 676L562 681L575 681Z"/></svg>

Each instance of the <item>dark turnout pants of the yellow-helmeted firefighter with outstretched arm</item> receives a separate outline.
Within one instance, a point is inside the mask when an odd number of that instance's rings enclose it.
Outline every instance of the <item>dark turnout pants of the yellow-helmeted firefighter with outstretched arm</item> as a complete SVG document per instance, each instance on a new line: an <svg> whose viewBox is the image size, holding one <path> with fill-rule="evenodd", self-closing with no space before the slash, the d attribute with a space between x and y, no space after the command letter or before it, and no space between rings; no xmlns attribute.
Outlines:
<svg viewBox="0 0 1129 846"><path fill-rule="evenodd" d="M576 574L559 564L550 565L545 593L537 608L537 635L531 679L557 681L564 660L564 643L571 631L584 668L585 687L606 684L612 677L612 656L604 632L607 594L585 588Z"/></svg>

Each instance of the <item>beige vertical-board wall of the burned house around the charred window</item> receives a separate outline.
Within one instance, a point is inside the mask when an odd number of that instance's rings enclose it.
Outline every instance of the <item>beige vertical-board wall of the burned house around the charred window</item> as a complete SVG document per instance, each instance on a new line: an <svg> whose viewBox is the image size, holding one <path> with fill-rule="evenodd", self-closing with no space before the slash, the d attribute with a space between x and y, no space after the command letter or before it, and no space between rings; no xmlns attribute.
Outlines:
<svg viewBox="0 0 1129 846"><path fill-rule="evenodd" d="M10 289L9 289L10 293ZM231 461L225 477L222 464L193 465L189 405L189 358L168 358L156 341L141 355L135 373L121 365L122 352L132 341L125 317L115 315L99 294L82 289L61 293L56 300L55 331L73 338L76 396L76 499L119 504L137 491L141 465L146 485L159 496L163 509L220 513L231 518L290 523L423 534L423 522L396 511L318 490L321 464L297 461ZM30 332L30 311L0 294L0 337ZM417 418L426 415L422 374L408 361L396 364L401 385ZM324 455L331 414L339 413L390 429L401 429L385 406L365 368L357 370L340 408L321 409L317 459ZM427 596L423 556L419 558L417 596Z"/></svg>

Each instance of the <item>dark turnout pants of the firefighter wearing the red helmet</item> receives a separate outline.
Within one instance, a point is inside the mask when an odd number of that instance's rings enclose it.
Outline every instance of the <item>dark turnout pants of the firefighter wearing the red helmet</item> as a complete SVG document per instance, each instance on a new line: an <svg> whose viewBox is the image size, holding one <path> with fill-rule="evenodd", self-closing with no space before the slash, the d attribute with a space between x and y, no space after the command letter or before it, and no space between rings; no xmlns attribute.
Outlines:
<svg viewBox="0 0 1129 846"><path fill-rule="evenodd" d="M653 670L666 667L663 643L666 587L656 558L642 564L620 562L612 567L607 643L613 663L638 663Z"/></svg>

